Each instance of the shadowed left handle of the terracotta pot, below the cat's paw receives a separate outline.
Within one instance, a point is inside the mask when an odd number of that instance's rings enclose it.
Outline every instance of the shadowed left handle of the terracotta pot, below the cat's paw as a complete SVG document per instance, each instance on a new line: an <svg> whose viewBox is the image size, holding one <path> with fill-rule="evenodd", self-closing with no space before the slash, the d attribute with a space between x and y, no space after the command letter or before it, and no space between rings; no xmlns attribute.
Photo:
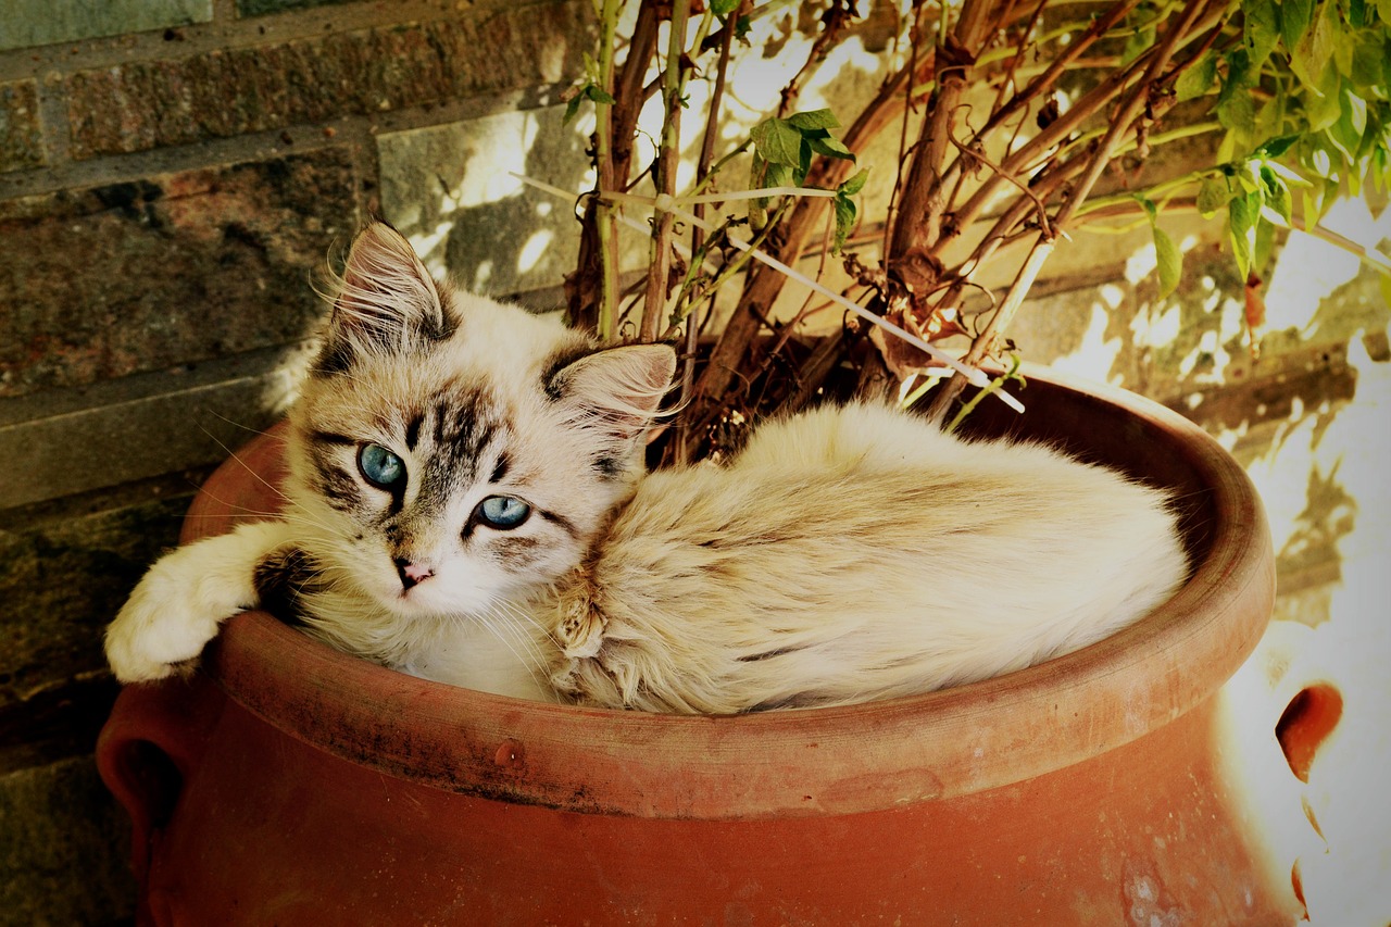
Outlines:
<svg viewBox="0 0 1391 927"><path fill-rule="evenodd" d="M102 781L131 817L131 867L146 894L153 848L168 825L184 782L198 770L220 711L211 683L140 682L121 689L96 745Z"/></svg>

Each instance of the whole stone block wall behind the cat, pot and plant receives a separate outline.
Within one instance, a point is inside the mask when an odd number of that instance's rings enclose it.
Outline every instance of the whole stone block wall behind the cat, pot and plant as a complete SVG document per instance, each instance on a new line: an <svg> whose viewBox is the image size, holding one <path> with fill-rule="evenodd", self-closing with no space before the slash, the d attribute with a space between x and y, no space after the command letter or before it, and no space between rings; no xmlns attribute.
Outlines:
<svg viewBox="0 0 1391 927"><path fill-rule="evenodd" d="M559 95L580 72L588 19L588 0L7 6L0 924L132 910L124 818L90 759L115 695L102 629L174 543L200 480L292 397L324 310L312 280L334 249L381 214L433 270L558 301L570 209L508 171L584 187L584 120L562 125ZM846 85L810 88L803 109L874 90L865 49L882 18L867 22ZM747 67L751 121L779 84L758 77L757 57ZM1353 498L1377 470L1338 461L1384 459L1385 431L1377 444L1349 411L1388 380L1391 313L1374 273L1295 237L1253 360L1220 227L1164 223L1185 249L1177 294L1155 295L1146 230L1079 232L1013 337L1031 360L1191 415L1249 464L1276 529L1280 614L1319 625L1346 550L1367 547L1349 539L1385 521L1384 494ZM1344 231L1391 237L1365 207ZM636 262L643 252L638 239ZM1306 290L1313 277L1327 285Z"/></svg>

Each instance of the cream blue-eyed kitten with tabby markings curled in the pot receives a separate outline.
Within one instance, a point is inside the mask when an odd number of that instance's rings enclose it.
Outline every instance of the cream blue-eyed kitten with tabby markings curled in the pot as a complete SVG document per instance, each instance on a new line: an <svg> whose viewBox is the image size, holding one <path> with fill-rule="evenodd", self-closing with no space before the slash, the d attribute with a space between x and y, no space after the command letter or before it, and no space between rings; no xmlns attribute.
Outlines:
<svg viewBox="0 0 1391 927"><path fill-rule="evenodd" d="M289 416L285 514L167 554L111 624L118 679L267 605L405 672L524 699L734 714L996 676L1184 582L1168 496L886 405L771 420L645 473L666 345L598 348L353 241Z"/></svg>

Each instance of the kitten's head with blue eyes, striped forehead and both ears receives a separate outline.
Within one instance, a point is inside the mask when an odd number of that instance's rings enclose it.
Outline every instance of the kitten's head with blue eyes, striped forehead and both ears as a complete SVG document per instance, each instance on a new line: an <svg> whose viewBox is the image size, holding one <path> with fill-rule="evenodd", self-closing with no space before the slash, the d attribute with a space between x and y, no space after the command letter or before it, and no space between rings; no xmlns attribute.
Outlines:
<svg viewBox="0 0 1391 927"><path fill-rule="evenodd" d="M665 345L445 287L383 224L355 239L291 416L289 518L406 618L483 614L577 565L643 470Z"/></svg>

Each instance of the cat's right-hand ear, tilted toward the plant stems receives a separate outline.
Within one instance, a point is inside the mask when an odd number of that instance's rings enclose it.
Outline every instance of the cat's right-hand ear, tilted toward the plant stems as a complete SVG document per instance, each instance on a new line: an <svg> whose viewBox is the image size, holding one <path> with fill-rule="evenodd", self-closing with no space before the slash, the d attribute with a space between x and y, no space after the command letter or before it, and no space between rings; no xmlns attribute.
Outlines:
<svg viewBox="0 0 1391 927"><path fill-rule="evenodd" d="M608 348L547 377L545 390L565 404L576 425L620 441L636 441L657 418L672 386L676 351L665 344Z"/></svg>

